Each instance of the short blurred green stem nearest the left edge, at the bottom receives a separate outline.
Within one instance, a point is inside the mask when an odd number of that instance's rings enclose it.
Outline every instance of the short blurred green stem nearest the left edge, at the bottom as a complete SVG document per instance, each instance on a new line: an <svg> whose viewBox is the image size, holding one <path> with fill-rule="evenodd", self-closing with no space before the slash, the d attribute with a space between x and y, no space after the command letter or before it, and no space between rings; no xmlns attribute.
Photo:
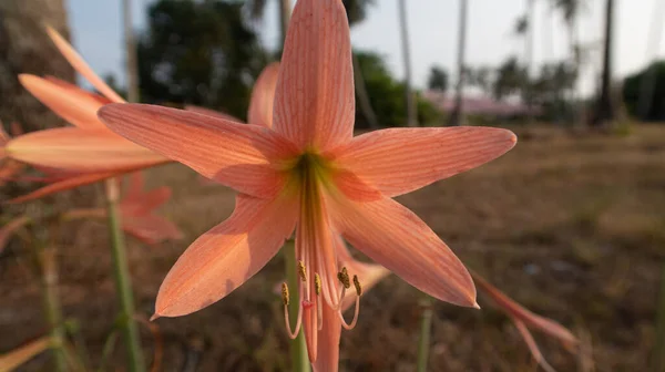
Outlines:
<svg viewBox="0 0 665 372"><path fill-rule="evenodd" d="M50 247L38 247L38 260L41 270L41 287L43 306L53 348L54 371L66 371L66 359L64 355L64 330L62 328L62 310L58 298L58 264L55 261L55 249Z"/></svg>

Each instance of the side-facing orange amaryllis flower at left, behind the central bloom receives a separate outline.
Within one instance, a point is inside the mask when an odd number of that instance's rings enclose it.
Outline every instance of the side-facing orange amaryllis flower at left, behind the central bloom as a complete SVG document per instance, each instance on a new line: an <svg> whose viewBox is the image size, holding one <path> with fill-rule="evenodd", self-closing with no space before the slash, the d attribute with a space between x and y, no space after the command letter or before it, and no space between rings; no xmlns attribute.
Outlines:
<svg viewBox="0 0 665 372"><path fill-rule="evenodd" d="M63 56L103 95L52 76L19 76L32 95L74 127L38 131L7 142L3 153L10 159L41 170L50 169L44 178L49 185L12 202L42 197L168 162L109 131L100 122L96 116L100 107L124 100L94 74L55 30L48 28L47 31Z"/></svg>

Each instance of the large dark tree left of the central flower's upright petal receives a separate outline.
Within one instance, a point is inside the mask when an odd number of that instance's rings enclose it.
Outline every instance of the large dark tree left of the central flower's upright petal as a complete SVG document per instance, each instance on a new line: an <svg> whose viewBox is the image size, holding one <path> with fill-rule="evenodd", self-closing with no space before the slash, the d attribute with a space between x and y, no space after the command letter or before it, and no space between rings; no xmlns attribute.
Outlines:
<svg viewBox="0 0 665 372"><path fill-rule="evenodd" d="M145 102L203 105L245 117L266 61L242 3L160 0L139 42L141 95Z"/></svg>

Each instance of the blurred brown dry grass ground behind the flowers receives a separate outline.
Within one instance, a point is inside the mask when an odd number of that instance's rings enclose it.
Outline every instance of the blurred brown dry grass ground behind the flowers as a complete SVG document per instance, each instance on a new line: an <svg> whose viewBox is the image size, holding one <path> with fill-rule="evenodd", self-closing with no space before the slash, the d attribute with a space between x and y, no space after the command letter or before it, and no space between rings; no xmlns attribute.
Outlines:
<svg viewBox="0 0 665 372"><path fill-rule="evenodd" d="M538 337L561 371L644 371L654 340L658 276L665 260L665 127L627 137L529 131L518 147L480 169L399 200L422 217L477 271L532 310L581 335L591 359ZM165 208L186 232L155 248L131 244L142 313L151 313L161 279L187 242L228 216L231 190L201 185L178 165L150 172L167 184ZM43 331L37 286L0 258L0 350ZM79 320L89 353L101 353L115 302L103 226L84 224L60 249L64 312ZM288 370L275 259L225 300L180 319L161 319L165 371L198 359L200 371ZM359 326L342 334L341 371L412 371L419 294L390 277L364 297ZM432 371L534 371L518 332L483 301L482 311L436 306ZM151 344L147 330L145 344ZM122 360L122 348L116 349ZM27 370L44 368L45 358ZM119 364L120 365L120 364Z"/></svg>

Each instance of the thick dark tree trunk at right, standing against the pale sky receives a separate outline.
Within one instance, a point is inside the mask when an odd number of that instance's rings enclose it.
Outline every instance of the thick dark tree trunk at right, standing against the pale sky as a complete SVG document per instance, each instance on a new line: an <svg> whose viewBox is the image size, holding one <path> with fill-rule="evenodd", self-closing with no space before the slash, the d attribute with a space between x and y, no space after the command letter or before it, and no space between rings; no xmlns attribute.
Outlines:
<svg viewBox="0 0 665 372"><path fill-rule="evenodd" d="M603 54L603 76L601 94L596 105L595 115L591 126L602 127L614 118L614 106L612 104L612 42L613 42L613 14L614 0L606 0L605 6L605 51Z"/></svg>

